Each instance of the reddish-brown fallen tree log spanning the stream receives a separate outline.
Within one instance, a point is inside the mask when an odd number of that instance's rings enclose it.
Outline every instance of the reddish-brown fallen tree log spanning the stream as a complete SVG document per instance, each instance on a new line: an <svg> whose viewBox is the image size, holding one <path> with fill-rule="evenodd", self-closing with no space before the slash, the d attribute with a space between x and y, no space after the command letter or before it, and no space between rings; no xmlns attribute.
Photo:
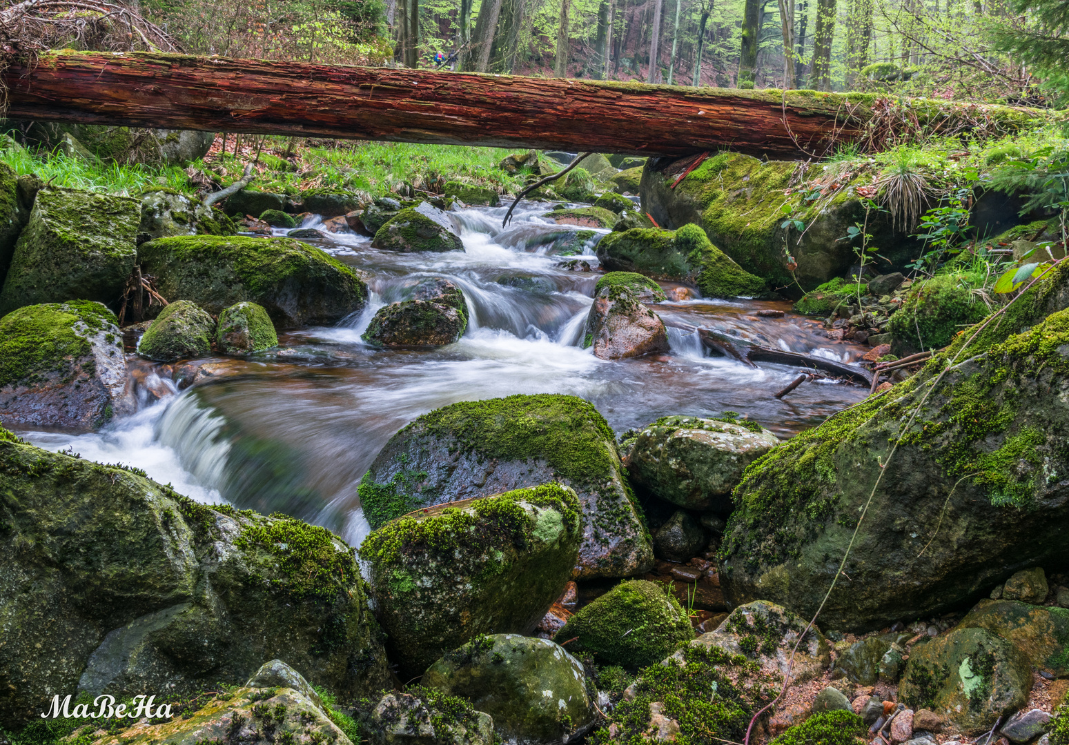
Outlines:
<svg viewBox="0 0 1069 745"><path fill-rule="evenodd" d="M48 52L6 60L6 115L356 140L774 158L874 142L917 122L1005 134L1038 114L871 94L746 91L344 67L155 52ZM898 108L896 108L898 107ZM910 110L902 117L899 108ZM867 139L866 139L867 138Z"/></svg>

